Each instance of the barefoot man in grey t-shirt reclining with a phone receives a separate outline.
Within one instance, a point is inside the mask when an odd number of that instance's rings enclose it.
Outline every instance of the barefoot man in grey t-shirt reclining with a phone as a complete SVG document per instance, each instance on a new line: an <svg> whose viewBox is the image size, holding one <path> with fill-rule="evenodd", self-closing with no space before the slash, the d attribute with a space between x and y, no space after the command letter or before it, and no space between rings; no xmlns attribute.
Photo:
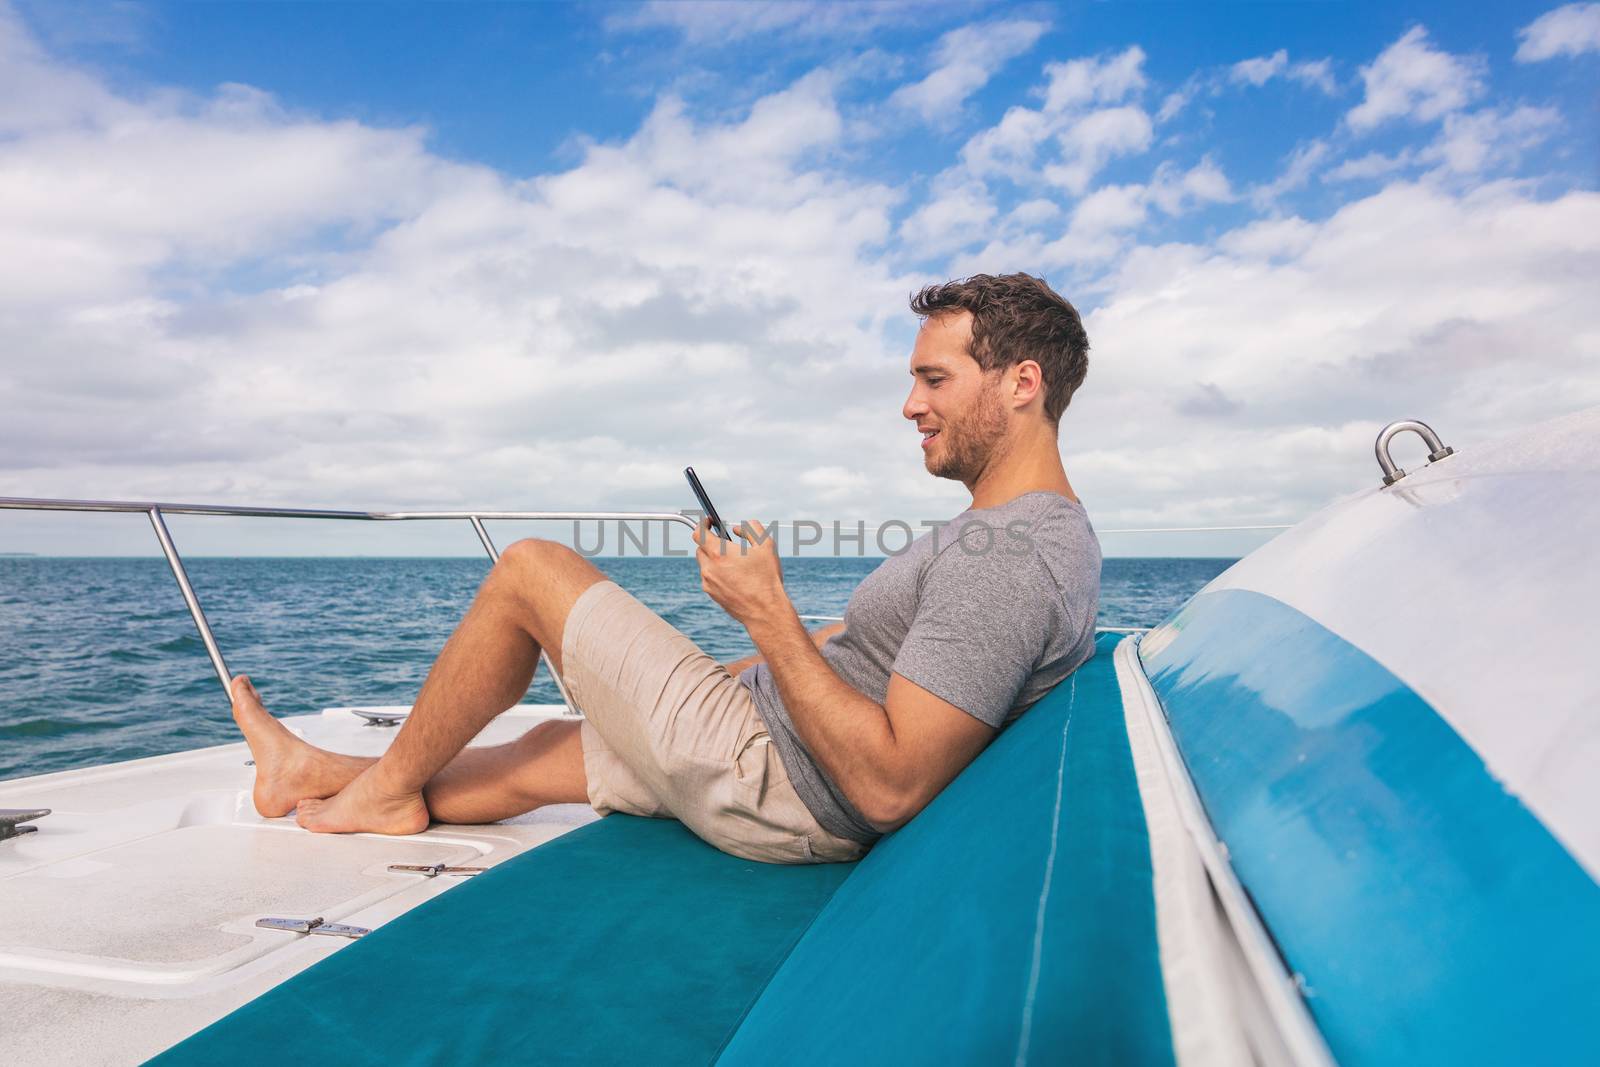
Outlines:
<svg viewBox="0 0 1600 1067"><path fill-rule="evenodd" d="M890 557L845 622L806 633L776 539L702 523L701 584L758 651L718 664L581 555L520 541L485 579L382 758L315 749L234 680L262 816L317 832L416 833L547 803L682 819L768 862L862 856L1094 648L1099 544L1058 424L1088 368L1077 312L1042 280L976 275L912 298L901 411L971 507ZM466 749L533 680L539 651L582 721Z"/></svg>

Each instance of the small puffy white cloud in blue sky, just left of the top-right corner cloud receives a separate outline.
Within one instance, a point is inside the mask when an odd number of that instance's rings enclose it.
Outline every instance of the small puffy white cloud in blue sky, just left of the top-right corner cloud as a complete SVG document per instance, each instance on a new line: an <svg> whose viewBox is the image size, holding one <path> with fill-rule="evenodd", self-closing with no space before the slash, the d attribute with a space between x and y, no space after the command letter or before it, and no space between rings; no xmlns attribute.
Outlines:
<svg viewBox="0 0 1600 1067"><path fill-rule="evenodd" d="M1357 133L1392 118L1432 122L1466 107L1483 93L1483 64L1434 48L1427 30L1414 26L1362 67L1362 82L1366 96L1344 117Z"/></svg>

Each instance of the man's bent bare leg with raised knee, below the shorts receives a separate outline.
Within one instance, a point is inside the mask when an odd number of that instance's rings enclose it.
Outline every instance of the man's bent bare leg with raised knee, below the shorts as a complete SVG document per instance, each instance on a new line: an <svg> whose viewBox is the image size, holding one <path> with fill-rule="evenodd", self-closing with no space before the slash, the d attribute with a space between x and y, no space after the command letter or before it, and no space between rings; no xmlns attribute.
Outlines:
<svg viewBox="0 0 1600 1067"><path fill-rule="evenodd" d="M522 699L533 681L541 648L560 670L566 616L584 590L603 579L594 565L563 545L547 541L510 545L445 643L389 752L370 766L339 757L333 763L318 760L312 768L302 765L278 781L269 773L266 789L258 782L258 806L264 798L269 803L262 811L277 809L290 793L301 792L293 798L299 801L296 819L309 830L422 830L429 822L424 787L491 718ZM571 750L578 749L576 739L571 741L550 749L552 755L566 757L562 761L566 771L571 771ZM346 761L339 765L338 760ZM581 777L581 749L576 760ZM504 769L504 761L496 766ZM349 773L354 777L339 787L339 779ZM474 777L466 768L446 776L446 797L469 795ZM566 777L565 792L570 793L570 774ZM330 785L338 789L331 797Z"/></svg>

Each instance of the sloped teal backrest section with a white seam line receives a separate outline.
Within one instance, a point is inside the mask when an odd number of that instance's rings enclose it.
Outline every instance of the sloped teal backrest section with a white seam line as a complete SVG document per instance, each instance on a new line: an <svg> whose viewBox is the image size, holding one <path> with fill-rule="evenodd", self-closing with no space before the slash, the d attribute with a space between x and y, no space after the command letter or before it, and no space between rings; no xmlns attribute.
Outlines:
<svg viewBox="0 0 1600 1067"><path fill-rule="evenodd" d="M722 1062L1173 1062L1115 641L858 864Z"/></svg>

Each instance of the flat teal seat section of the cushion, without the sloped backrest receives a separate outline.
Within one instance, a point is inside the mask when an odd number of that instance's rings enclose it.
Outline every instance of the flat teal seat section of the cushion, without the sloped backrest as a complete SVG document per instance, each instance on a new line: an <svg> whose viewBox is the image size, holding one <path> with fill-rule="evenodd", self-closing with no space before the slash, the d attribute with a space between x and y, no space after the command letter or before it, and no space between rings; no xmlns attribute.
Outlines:
<svg viewBox="0 0 1600 1067"><path fill-rule="evenodd" d="M706 1064L853 864L608 816L418 907L158 1064Z"/></svg>

